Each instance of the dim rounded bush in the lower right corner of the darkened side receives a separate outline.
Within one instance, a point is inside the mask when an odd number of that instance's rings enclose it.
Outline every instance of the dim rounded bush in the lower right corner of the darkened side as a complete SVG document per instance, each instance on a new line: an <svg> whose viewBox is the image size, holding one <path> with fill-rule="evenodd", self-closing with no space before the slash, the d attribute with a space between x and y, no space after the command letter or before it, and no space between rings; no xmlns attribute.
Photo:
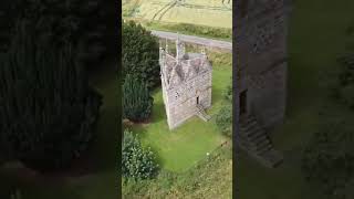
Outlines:
<svg viewBox="0 0 354 199"><path fill-rule="evenodd" d="M350 192L345 189L354 177L354 135L342 125L323 125L308 144L302 159L306 179L333 199L347 198L345 192Z"/></svg>

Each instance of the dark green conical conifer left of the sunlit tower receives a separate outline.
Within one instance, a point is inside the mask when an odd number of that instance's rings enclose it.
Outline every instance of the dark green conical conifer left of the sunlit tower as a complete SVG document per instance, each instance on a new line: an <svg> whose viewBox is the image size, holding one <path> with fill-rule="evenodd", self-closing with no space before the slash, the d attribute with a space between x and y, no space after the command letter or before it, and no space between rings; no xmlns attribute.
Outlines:
<svg viewBox="0 0 354 199"><path fill-rule="evenodd" d="M123 115L133 122L146 121L153 109L154 98L147 85L128 74L123 84Z"/></svg>

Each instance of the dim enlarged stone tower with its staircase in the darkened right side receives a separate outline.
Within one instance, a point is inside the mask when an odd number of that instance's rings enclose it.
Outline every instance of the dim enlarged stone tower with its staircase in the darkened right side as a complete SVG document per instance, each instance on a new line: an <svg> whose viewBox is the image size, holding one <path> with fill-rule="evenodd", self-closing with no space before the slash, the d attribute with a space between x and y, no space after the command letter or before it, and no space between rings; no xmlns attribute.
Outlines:
<svg viewBox="0 0 354 199"><path fill-rule="evenodd" d="M267 129L281 123L287 102L285 0L239 0L236 4L237 140L268 166L281 163Z"/></svg>

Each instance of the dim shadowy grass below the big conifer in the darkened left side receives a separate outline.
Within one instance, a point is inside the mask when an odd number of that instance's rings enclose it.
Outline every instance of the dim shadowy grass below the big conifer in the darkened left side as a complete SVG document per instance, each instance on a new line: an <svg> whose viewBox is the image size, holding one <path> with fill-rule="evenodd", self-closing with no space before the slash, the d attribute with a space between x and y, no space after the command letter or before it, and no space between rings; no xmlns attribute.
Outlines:
<svg viewBox="0 0 354 199"><path fill-rule="evenodd" d="M22 199L97 199L117 198L117 80L114 72L100 72L92 78L103 94L97 125L97 139L87 158L75 163L72 170L31 176L25 170L0 170L1 188L18 187ZM63 177L65 176L65 177ZM0 198L1 191L0 191Z"/></svg>

